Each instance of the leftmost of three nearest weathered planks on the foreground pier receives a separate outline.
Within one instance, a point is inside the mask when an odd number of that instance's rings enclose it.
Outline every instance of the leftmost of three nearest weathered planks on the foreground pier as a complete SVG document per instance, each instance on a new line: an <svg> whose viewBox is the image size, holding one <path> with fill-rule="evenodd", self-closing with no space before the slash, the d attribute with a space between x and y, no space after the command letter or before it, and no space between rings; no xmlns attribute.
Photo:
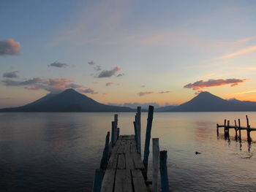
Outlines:
<svg viewBox="0 0 256 192"><path fill-rule="evenodd" d="M113 192L115 174L116 174L115 169L107 169L102 180L101 192Z"/></svg>

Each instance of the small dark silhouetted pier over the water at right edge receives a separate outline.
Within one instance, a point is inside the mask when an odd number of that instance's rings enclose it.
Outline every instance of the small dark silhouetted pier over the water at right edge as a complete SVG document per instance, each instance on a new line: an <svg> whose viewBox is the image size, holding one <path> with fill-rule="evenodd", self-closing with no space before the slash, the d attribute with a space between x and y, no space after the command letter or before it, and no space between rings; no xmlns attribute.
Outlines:
<svg viewBox="0 0 256 192"><path fill-rule="evenodd" d="M250 134L251 131L256 131L256 128L252 128L249 125L249 118L247 115L246 115L246 126L241 126L240 119L238 119L238 125L236 123L236 120L234 120L233 126L230 125L230 120L225 119L223 125L217 124L217 135L219 135L219 128L224 128L225 137L229 137L229 130L230 128L231 129L233 128L236 131L236 138L238 138L238 132L239 132L239 139L241 139L241 130L246 130L248 140L251 140L251 134Z"/></svg>

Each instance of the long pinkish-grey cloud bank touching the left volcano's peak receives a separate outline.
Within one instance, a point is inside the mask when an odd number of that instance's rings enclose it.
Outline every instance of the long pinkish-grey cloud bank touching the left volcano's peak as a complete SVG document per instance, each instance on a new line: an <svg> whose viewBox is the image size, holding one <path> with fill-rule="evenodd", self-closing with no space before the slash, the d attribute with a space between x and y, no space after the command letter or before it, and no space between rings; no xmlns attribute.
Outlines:
<svg viewBox="0 0 256 192"><path fill-rule="evenodd" d="M15 81L15 80L2 80L5 86L17 86L24 87L27 90L45 90L50 93L59 93L66 90L67 88L81 89L85 88L83 85L75 84L73 80L67 78L49 78L48 80L43 80L40 77L34 77L30 80L25 81Z"/></svg>

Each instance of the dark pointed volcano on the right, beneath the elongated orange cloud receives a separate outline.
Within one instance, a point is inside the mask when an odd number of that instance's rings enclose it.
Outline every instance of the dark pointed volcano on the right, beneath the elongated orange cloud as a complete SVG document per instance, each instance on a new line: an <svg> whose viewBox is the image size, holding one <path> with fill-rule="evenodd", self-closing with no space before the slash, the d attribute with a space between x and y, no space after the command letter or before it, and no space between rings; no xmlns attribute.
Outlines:
<svg viewBox="0 0 256 192"><path fill-rule="evenodd" d="M165 112L229 112L256 111L256 102L225 100L208 92L202 92L190 101Z"/></svg>

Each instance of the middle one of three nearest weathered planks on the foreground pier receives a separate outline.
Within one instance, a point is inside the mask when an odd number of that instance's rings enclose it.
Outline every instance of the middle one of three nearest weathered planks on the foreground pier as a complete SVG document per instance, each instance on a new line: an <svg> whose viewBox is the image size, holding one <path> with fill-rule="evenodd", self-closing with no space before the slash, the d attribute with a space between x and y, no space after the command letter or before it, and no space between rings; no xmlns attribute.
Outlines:
<svg viewBox="0 0 256 192"><path fill-rule="evenodd" d="M115 192L132 192L131 172L127 169L116 170Z"/></svg>

